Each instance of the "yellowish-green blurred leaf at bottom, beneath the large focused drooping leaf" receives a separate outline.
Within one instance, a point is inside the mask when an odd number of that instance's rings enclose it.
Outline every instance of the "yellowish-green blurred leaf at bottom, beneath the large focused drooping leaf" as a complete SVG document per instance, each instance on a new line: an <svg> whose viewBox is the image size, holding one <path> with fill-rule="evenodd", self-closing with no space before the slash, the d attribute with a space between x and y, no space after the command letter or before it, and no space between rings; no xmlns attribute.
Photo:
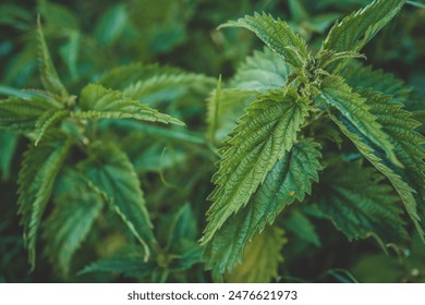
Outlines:
<svg viewBox="0 0 425 305"><path fill-rule="evenodd" d="M226 280L232 283L268 283L278 277L279 264L283 261L281 251L287 243L283 230L269 227L256 234L246 246L243 261Z"/></svg>

